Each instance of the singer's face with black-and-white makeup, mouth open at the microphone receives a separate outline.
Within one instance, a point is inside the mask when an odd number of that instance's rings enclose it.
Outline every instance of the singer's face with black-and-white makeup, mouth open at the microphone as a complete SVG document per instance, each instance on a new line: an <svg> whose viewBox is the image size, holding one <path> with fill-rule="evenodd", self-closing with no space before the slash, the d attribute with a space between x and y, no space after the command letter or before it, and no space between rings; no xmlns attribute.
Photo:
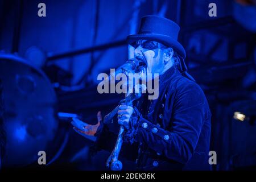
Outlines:
<svg viewBox="0 0 256 182"><path fill-rule="evenodd" d="M147 73L162 73L164 70L164 46L151 40L137 40L133 45L134 57L146 64Z"/></svg>

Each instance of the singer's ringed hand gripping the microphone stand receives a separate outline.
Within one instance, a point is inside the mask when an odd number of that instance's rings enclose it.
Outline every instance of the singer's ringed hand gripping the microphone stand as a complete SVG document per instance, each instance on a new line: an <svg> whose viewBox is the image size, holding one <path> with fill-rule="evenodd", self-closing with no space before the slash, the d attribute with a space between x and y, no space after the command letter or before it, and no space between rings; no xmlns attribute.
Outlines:
<svg viewBox="0 0 256 182"><path fill-rule="evenodd" d="M131 118L131 114L133 114L133 107L120 105L117 114L119 125L123 125L126 127L126 129L129 129L129 121Z"/></svg>

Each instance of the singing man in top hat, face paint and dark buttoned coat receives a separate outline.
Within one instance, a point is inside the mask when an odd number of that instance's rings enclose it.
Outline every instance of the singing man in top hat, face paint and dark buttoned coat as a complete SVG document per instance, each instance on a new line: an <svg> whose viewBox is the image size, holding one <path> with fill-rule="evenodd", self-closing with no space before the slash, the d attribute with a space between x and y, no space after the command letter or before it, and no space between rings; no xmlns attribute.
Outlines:
<svg viewBox="0 0 256 182"><path fill-rule="evenodd" d="M127 36L141 63L139 70L159 74L157 99L148 100L144 93L133 106L120 105L117 112L119 125L126 129L124 141L138 147L138 170L210 170L211 114L203 90L187 72L186 53L177 41L179 29L169 19L149 15L142 18L138 34ZM93 126L77 118L72 124L77 133L96 136L94 149L101 150L116 136L100 112L97 118Z"/></svg>

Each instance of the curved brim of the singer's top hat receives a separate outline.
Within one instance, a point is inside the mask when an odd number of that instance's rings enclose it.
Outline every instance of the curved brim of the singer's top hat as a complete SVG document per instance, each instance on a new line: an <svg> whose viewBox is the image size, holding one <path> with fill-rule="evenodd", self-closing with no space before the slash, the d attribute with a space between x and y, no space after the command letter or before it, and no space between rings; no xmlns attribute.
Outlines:
<svg viewBox="0 0 256 182"><path fill-rule="evenodd" d="M162 43L166 46L170 46L175 49L175 51L185 59L186 57L186 52L183 46L177 42L177 40L174 40L170 38L169 36L166 35L161 35L161 34L134 34L134 35L129 35L126 38L126 41L128 44L133 44L139 39L145 39L145 40L153 40L159 43Z"/></svg>

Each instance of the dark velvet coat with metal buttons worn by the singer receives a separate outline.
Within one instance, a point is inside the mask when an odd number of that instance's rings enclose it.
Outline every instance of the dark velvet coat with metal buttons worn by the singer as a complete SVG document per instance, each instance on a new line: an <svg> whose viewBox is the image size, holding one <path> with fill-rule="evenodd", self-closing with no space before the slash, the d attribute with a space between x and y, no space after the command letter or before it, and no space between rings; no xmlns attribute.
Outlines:
<svg viewBox="0 0 256 182"><path fill-rule="evenodd" d="M158 99L148 100L145 95L135 106L141 113L134 144L138 144L137 169L210 169L211 114L204 92L196 82L170 68L159 77ZM115 137L104 127L96 146L108 148L105 143L109 143L110 136L114 140ZM130 151L128 154L131 156Z"/></svg>

